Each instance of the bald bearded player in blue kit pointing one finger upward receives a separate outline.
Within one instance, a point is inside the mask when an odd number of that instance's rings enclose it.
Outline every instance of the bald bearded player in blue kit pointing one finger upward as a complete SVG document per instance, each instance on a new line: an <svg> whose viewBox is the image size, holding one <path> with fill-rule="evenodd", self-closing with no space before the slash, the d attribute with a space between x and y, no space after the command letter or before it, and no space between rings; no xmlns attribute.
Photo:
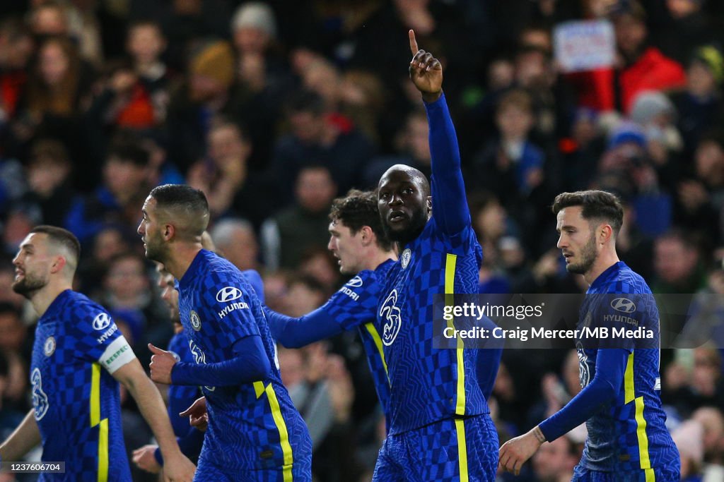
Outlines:
<svg viewBox="0 0 724 482"><path fill-rule="evenodd" d="M493 481L497 434L476 376L479 350L433 347L441 335L433 331L434 295L476 293L482 251L442 93L442 65L409 35L410 77L429 121L432 186L408 165L392 166L378 186L382 223L400 259L377 311L390 376L390 435L374 480Z"/></svg>

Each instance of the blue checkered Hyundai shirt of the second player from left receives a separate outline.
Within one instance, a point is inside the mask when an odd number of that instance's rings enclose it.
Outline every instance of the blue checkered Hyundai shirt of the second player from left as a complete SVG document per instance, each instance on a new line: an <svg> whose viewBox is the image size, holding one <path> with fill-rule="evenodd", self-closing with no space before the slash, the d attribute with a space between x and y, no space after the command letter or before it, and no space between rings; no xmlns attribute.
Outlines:
<svg viewBox="0 0 724 482"><path fill-rule="evenodd" d="M235 357L232 347L237 340L249 335L261 337L271 363L269 376L262 382L265 388L271 384L276 394L293 459L311 457L311 439L282 385L276 347L261 303L241 272L226 259L200 251L179 281L179 307L196 363L230 360ZM198 321L192 321L192 311ZM209 410L209 429L201 451L206 466L222 468L228 477L235 477L245 470L283 465L282 440L271 410L274 400L266 393L257 397L251 383L202 390ZM198 476L206 477L203 471Z"/></svg>

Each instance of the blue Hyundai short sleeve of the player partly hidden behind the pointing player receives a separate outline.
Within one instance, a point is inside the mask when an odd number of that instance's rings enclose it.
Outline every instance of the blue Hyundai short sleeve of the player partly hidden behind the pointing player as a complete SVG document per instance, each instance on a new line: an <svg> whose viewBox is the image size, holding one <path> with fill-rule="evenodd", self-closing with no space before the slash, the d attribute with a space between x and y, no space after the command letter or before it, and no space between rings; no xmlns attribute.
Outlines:
<svg viewBox="0 0 724 482"><path fill-rule="evenodd" d="M326 311L344 330L353 330L374 322L379 294L382 292L374 271L365 270L349 280L322 310Z"/></svg>

